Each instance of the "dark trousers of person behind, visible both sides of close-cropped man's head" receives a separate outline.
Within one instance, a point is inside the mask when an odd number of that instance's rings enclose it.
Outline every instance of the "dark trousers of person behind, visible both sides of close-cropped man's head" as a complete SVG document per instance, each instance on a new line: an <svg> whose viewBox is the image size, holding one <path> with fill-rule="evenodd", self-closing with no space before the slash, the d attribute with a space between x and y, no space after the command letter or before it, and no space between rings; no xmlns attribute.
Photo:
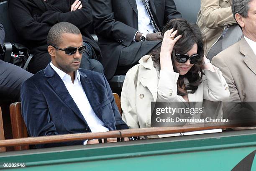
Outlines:
<svg viewBox="0 0 256 171"><path fill-rule="evenodd" d="M86 46L86 50L82 56L80 68L104 74L104 68L102 64L95 59L90 59L92 57L92 47L87 43L84 43L84 45ZM29 71L33 74L36 74L38 71L45 69L50 61L51 56L48 52L39 52L33 56L33 59L31 59L31 62L29 63Z"/></svg>

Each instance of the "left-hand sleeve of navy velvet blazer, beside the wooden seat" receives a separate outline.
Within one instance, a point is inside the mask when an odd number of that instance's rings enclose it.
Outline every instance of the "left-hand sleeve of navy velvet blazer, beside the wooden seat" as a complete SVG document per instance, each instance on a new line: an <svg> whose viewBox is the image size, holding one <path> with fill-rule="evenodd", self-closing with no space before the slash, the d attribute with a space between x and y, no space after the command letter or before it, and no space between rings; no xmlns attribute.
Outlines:
<svg viewBox="0 0 256 171"><path fill-rule="evenodd" d="M51 120L47 102L33 82L28 79L21 86L21 112L26 123L28 134L33 137L59 135ZM65 145L82 145L83 141L51 143L36 145L37 148Z"/></svg>

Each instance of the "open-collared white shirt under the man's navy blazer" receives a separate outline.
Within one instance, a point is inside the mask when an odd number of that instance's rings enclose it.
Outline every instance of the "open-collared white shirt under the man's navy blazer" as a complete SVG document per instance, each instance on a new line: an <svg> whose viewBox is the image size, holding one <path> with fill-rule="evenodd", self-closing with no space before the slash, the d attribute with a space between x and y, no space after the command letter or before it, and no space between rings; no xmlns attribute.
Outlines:
<svg viewBox="0 0 256 171"><path fill-rule="evenodd" d="M102 123L102 121L97 117L95 112L92 110L92 107L82 87L79 72L75 71L75 79L73 84L70 75L66 74L65 72L61 71L59 68L54 66L52 62L50 63L50 65L52 69L54 69L54 71L56 71L56 73L59 75L61 80L64 82L69 94L71 95L78 109L82 113L92 133L109 131L108 128L103 126L104 123Z"/></svg>

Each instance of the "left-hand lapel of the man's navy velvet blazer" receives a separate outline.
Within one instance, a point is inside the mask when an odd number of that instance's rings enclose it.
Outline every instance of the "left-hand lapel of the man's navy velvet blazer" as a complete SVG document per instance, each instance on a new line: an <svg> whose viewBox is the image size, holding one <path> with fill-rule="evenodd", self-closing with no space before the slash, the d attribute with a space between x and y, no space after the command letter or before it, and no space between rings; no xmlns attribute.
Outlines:
<svg viewBox="0 0 256 171"><path fill-rule="evenodd" d="M61 100L63 100L67 104L67 106L70 107L70 109L86 123L82 113L80 112L73 98L69 94L64 82L61 80L59 75L54 71L54 69L51 68L50 65L46 67L44 72L46 77L49 77L47 82L51 85L56 94L58 94Z"/></svg>

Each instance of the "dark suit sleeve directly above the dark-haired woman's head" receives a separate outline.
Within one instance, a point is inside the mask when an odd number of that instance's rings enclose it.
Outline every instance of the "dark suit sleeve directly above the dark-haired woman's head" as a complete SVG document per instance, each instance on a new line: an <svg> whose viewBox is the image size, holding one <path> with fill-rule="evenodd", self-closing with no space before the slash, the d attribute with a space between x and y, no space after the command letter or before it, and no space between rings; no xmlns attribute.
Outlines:
<svg viewBox="0 0 256 171"><path fill-rule="evenodd" d="M175 18L182 18L182 15L177 11L174 0L165 0L165 4L164 23Z"/></svg>

